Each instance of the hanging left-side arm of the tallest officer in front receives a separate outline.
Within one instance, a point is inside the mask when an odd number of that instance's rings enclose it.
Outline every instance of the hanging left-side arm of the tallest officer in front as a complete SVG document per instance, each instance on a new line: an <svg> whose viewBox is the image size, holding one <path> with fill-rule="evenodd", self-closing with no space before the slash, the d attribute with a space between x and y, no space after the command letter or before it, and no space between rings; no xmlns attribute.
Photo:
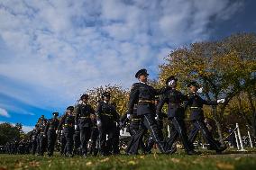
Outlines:
<svg viewBox="0 0 256 170"><path fill-rule="evenodd" d="M139 87L133 84L132 90L130 92L129 103L128 103L128 114L133 114L133 107L135 103L139 100Z"/></svg>

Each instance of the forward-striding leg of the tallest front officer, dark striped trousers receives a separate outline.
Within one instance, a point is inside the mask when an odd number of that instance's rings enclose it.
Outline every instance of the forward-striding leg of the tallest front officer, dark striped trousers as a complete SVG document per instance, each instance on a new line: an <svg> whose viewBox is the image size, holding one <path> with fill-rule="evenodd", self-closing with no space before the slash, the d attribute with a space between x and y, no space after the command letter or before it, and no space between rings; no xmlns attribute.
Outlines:
<svg viewBox="0 0 256 170"><path fill-rule="evenodd" d="M165 142L163 142L163 139L160 139L160 131L158 130L154 115L145 114L142 120L143 120L143 124L148 130L150 130L153 139L158 144L158 147L160 148L160 152L166 153L167 151L167 149L165 148L166 144Z"/></svg>

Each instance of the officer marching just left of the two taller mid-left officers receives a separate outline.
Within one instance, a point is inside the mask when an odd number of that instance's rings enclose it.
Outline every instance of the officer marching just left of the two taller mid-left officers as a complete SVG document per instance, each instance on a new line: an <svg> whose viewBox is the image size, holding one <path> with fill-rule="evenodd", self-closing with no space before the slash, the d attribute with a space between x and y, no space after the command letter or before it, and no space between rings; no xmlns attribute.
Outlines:
<svg viewBox="0 0 256 170"><path fill-rule="evenodd" d="M66 140L65 145L65 153L68 157L73 157L72 150L73 150L73 135L75 131L75 116L73 115L74 106L69 106L67 111L65 112L64 116L59 121L58 130L60 130L61 126L63 125L63 134Z"/></svg>

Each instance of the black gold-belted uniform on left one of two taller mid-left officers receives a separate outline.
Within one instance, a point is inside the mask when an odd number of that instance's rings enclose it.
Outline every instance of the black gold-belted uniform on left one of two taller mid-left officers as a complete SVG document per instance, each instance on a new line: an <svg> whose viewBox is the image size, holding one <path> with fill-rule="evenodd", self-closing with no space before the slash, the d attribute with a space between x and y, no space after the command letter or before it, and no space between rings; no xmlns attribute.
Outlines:
<svg viewBox="0 0 256 170"><path fill-rule="evenodd" d="M80 131L80 141L82 154L87 155L87 144L91 137L92 121L90 114L94 114L94 109L89 104L78 104L75 108L76 124Z"/></svg>

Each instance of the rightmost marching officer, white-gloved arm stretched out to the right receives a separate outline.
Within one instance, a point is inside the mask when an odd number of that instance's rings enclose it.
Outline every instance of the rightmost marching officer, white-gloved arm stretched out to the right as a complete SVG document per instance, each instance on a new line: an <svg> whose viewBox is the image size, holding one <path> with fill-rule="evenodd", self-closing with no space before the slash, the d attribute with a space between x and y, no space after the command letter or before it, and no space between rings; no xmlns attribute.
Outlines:
<svg viewBox="0 0 256 170"><path fill-rule="evenodd" d="M198 94L197 82L191 82L187 85L190 90L187 106L190 108L190 121L192 121L193 129L189 134L189 141L193 143L197 137L198 130L201 130L204 139L210 144L210 148L214 148L216 153L221 153L226 149L225 146L221 146L220 142L216 141L210 131L206 127L205 116L203 112L203 105L217 105L218 103L224 103L224 99L215 101L206 101L202 99Z"/></svg>

